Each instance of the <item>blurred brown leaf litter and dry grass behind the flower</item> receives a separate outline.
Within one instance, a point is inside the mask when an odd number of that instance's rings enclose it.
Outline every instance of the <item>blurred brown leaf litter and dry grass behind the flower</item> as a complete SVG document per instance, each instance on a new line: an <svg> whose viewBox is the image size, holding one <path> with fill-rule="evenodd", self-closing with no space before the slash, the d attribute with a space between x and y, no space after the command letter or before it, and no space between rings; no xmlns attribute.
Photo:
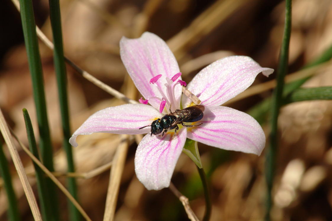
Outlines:
<svg viewBox="0 0 332 221"><path fill-rule="evenodd" d="M203 67L224 56L248 55L262 67L276 68L282 41L285 2L280 0L61 0L65 55L82 69L137 100L119 55L122 36L157 34L174 52L186 82ZM51 39L48 1L35 0L37 25ZM0 107L9 125L26 145L22 109L27 108L36 138L38 126L32 97L20 15L11 1L0 7ZM290 67L293 73L319 57L332 44L332 1L293 0ZM54 149L54 167L66 171L61 149L62 132L53 69L52 51L40 42L46 103ZM317 68L303 87L332 85L332 65ZM123 104L67 66L71 128L100 109ZM263 84L275 78L258 75L260 93L226 105L249 111L271 95ZM244 92L245 93L245 92ZM269 121L262 122L269 134ZM279 116L279 150L273 187L273 220L332 220L332 101L306 101L287 105ZM135 138L136 140L139 138ZM134 173L137 147L131 139L121 179L115 220L187 220L181 204L168 188L148 191ZM78 172L89 172L112 161L120 136L79 136L73 149ZM211 220L262 220L265 214L265 152L260 157L223 151L199 144L203 166L211 186ZM11 163L13 184L22 220L33 220L21 183ZM30 158L19 149L36 188ZM189 198L194 212L203 217L205 201L195 164L180 156L172 182ZM59 177L64 182L64 177ZM102 220L109 170L90 179L78 178L79 202L92 220ZM67 200L59 191L61 220L67 219ZM0 220L6 220L7 197L0 178Z"/></svg>

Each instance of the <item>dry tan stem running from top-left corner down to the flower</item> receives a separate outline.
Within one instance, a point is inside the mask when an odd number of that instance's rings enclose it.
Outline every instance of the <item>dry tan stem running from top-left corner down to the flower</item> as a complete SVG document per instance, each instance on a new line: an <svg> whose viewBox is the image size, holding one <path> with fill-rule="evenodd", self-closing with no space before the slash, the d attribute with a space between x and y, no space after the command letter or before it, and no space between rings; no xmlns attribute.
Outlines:
<svg viewBox="0 0 332 221"><path fill-rule="evenodd" d="M18 0L12 0L13 4L16 6L17 10L20 11L20 4ZM54 45L53 43L44 35L44 33L36 26L36 32L38 37L46 44L47 47L53 50ZM107 93L113 95L114 97L123 100L126 103L130 104L137 104L137 101L134 101L132 99L127 98L124 94L120 93L119 91L115 90L114 88L108 86L107 84L104 84L91 74L89 74L87 71L82 70L80 67L78 67L74 62L69 60L66 56L65 61L72 66L78 73L80 73L85 79L89 80L94 85L98 86L99 88L103 89Z"/></svg>

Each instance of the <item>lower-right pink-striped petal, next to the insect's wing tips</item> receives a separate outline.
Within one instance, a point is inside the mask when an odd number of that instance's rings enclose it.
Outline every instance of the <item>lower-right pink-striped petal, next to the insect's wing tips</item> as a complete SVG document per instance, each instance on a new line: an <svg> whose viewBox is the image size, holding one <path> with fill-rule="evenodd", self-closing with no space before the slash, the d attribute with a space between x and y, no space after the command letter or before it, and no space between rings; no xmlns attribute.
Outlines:
<svg viewBox="0 0 332 221"><path fill-rule="evenodd" d="M265 134L250 115L228 107L206 107L197 127L189 127L187 137L225 150L260 155Z"/></svg>

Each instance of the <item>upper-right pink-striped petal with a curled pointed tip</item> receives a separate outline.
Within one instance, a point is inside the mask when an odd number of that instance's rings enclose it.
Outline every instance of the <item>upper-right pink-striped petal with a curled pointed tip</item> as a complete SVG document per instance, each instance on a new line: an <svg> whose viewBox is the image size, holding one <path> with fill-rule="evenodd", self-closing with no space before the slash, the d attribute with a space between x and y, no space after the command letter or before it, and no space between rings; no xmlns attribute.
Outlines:
<svg viewBox="0 0 332 221"><path fill-rule="evenodd" d="M271 68L262 68L247 56L229 56L213 62L201 70L188 84L187 89L196 95L204 106L219 106L247 89L257 74L273 73ZM191 100L182 97L183 107Z"/></svg>

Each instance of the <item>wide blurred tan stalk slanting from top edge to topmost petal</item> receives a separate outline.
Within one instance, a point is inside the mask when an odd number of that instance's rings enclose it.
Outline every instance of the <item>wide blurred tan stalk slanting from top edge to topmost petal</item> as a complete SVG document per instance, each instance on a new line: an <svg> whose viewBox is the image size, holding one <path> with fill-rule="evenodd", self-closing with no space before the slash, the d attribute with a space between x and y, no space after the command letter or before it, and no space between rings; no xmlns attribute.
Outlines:
<svg viewBox="0 0 332 221"><path fill-rule="evenodd" d="M167 44L176 57L181 58L185 47L196 44L245 2L247 0L218 0L198 16L189 27L169 39Z"/></svg>

